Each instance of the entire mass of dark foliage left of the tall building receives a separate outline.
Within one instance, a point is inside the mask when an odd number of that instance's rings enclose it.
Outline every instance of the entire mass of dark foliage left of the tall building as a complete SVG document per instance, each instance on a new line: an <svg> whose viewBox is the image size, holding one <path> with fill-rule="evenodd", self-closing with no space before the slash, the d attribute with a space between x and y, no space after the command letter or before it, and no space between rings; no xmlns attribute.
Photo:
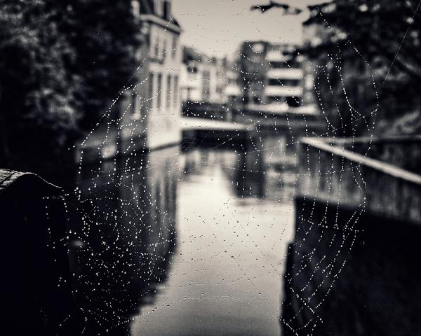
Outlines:
<svg viewBox="0 0 421 336"><path fill-rule="evenodd" d="M131 1L0 0L0 25L0 165L49 176L135 79Z"/></svg>

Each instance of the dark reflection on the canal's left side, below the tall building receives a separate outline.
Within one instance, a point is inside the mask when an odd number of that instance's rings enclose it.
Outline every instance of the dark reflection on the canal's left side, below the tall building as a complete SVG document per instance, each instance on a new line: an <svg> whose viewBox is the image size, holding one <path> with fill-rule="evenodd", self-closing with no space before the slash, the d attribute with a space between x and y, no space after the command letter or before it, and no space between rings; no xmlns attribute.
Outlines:
<svg viewBox="0 0 421 336"><path fill-rule="evenodd" d="M84 165L70 251L86 335L123 335L166 281L175 251L178 148Z"/></svg>

